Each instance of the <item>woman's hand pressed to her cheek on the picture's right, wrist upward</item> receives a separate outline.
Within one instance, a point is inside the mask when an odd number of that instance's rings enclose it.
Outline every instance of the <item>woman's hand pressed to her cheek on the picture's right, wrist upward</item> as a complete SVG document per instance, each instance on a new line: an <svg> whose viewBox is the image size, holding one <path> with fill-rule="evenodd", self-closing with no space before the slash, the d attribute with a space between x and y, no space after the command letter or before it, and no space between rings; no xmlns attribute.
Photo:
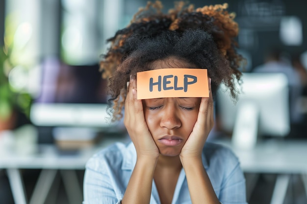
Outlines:
<svg viewBox="0 0 307 204"><path fill-rule="evenodd" d="M202 157L205 141L214 125L211 79L208 80L209 97L202 98L197 121L180 152L180 158Z"/></svg>

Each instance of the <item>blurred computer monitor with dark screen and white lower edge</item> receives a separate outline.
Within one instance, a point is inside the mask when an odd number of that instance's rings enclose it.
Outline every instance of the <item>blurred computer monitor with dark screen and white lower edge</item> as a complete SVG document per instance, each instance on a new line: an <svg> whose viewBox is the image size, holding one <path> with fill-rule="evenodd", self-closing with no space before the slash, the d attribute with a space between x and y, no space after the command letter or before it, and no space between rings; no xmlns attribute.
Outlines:
<svg viewBox="0 0 307 204"><path fill-rule="evenodd" d="M99 64L67 65L50 57L41 64L41 90L30 119L38 126L110 127L106 80Z"/></svg>

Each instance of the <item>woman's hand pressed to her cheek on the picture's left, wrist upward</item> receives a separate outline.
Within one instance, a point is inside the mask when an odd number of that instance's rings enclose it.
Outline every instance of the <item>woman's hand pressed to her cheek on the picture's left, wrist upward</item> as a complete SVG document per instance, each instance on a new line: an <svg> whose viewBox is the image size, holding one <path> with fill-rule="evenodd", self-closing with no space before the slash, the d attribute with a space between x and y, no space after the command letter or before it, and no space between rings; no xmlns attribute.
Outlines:
<svg viewBox="0 0 307 204"><path fill-rule="evenodd" d="M143 112L142 100L137 99L136 80L130 77L128 93L125 101L124 124L135 146L137 157L150 157L157 159L159 149L153 141Z"/></svg>

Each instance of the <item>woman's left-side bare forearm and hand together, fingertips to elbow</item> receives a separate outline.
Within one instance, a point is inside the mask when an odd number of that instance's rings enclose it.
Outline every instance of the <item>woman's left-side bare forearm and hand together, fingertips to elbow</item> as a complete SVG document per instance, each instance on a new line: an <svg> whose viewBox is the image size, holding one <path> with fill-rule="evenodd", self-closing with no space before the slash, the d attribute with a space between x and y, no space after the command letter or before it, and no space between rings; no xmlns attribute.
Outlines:
<svg viewBox="0 0 307 204"><path fill-rule="evenodd" d="M137 159L122 204L149 204L159 150L145 122L142 101L137 100L136 81L130 79L128 86L124 123L135 146Z"/></svg>

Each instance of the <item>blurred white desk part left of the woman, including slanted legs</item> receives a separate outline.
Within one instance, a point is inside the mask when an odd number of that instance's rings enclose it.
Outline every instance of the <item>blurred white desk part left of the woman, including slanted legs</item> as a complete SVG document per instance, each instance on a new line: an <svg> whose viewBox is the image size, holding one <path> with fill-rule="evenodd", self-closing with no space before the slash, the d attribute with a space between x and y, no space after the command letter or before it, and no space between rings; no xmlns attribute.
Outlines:
<svg viewBox="0 0 307 204"><path fill-rule="evenodd" d="M41 169L29 204L44 204L57 172L63 180L69 203L77 204L82 201L83 196L75 170L84 170L86 161L93 154L119 140L125 141L127 138L104 138L99 145L81 149L72 155L60 154L55 145L35 145L32 147L35 150L28 154L19 153L16 148L2 148L0 170L7 172L15 204L27 204L20 169Z"/></svg>

